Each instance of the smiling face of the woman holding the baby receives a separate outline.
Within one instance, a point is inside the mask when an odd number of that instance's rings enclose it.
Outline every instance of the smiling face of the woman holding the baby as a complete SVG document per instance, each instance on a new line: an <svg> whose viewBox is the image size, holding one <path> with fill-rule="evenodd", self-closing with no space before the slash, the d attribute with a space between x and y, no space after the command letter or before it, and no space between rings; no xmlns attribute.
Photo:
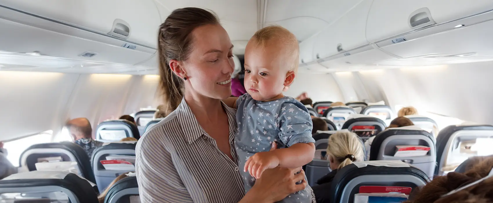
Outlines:
<svg viewBox="0 0 493 203"><path fill-rule="evenodd" d="M233 45L220 25L205 25L192 32L192 51L183 64L186 92L213 99L231 96L235 67Z"/></svg>

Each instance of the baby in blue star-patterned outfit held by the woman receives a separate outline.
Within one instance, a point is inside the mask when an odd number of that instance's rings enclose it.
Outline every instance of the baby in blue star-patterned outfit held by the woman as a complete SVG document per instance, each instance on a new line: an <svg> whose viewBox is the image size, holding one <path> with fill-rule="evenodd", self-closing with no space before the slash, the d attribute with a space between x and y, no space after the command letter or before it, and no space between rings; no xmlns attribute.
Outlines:
<svg viewBox="0 0 493 203"><path fill-rule="evenodd" d="M280 26L257 31L245 50L246 94L224 102L237 108L235 147L247 192L265 169L298 168L313 160L315 140L308 109L282 94L293 82L299 64L298 41ZM272 142L281 149L269 151ZM310 203L312 190L289 195L282 202Z"/></svg>

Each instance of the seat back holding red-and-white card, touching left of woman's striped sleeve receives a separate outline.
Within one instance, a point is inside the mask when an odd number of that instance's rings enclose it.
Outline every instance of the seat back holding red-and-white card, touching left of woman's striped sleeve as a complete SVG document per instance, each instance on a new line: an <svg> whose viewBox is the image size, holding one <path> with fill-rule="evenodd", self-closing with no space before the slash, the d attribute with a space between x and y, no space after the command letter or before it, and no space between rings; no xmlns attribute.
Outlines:
<svg viewBox="0 0 493 203"><path fill-rule="evenodd" d="M105 169L100 161L102 160L125 160L132 164L135 164L135 147L137 142L134 143L109 143L107 145L98 147L94 150L91 159L92 170L96 178L96 184L98 185L99 192L103 192L106 187L120 174L135 171L134 169ZM122 156L123 155L123 156Z"/></svg>

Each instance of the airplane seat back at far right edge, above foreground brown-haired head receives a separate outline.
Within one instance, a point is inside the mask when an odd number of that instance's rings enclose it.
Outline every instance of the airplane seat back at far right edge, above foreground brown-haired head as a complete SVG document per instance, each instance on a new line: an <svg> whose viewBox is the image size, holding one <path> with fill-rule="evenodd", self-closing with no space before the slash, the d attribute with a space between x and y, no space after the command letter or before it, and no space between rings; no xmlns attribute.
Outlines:
<svg viewBox="0 0 493 203"><path fill-rule="evenodd" d="M492 125L452 125L442 129L436 137L435 175L454 171L469 157L493 155L492 136Z"/></svg>

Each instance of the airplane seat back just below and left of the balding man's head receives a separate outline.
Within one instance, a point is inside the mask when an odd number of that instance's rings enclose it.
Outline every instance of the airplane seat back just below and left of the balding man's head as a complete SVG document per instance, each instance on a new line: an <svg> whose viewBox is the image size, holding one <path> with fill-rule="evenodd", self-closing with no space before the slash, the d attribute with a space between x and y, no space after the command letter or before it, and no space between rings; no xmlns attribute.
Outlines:
<svg viewBox="0 0 493 203"><path fill-rule="evenodd" d="M96 183L91 161L84 149L73 142L41 143L35 144L24 150L19 158L19 166L29 171L36 170L35 164L43 162L43 159L58 159L62 162L77 162L79 175Z"/></svg>

